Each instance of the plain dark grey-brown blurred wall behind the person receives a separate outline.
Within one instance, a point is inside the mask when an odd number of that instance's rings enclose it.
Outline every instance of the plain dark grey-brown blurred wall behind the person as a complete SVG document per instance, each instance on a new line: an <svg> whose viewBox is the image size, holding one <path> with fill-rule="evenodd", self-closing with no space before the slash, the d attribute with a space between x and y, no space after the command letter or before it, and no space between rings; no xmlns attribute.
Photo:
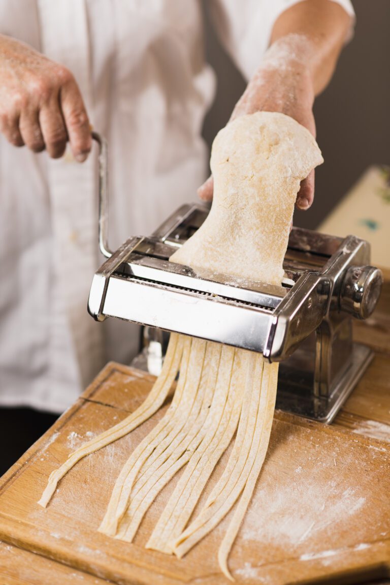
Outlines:
<svg viewBox="0 0 390 585"><path fill-rule="evenodd" d="M294 225L304 228L315 228L368 166L390 164L390 1L354 0L353 5L355 36L315 103L317 142L325 164L316 170L312 208L294 216ZM207 9L205 13L207 57L218 77L216 99L203 129L210 145L229 119L245 82L220 47Z"/></svg>

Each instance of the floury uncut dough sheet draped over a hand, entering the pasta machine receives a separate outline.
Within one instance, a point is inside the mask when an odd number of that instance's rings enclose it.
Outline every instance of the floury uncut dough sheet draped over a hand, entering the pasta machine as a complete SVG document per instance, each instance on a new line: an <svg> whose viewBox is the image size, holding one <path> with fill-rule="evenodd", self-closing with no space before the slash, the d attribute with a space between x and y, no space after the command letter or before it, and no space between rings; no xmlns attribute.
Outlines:
<svg viewBox="0 0 390 585"><path fill-rule="evenodd" d="M299 185L322 162L309 130L289 116L236 118L213 142L209 216L171 261L281 284Z"/></svg>

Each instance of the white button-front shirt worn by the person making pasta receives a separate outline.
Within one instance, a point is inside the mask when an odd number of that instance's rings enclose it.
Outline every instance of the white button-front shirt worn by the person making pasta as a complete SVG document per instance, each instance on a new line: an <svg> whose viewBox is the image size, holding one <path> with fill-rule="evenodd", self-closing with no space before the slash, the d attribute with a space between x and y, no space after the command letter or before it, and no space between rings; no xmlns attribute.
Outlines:
<svg viewBox="0 0 390 585"><path fill-rule="evenodd" d="M213 0L220 38L247 78L275 19L298 1ZM353 14L349 0L334 1ZM75 75L109 143L113 249L194 201L215 86L198 0L0 0L0 33ZM136 326L87 313L103 260L96 204L95 156L51 160L0 137L0 405L63 411L108 358L129 362L137 350Z"/></svg>

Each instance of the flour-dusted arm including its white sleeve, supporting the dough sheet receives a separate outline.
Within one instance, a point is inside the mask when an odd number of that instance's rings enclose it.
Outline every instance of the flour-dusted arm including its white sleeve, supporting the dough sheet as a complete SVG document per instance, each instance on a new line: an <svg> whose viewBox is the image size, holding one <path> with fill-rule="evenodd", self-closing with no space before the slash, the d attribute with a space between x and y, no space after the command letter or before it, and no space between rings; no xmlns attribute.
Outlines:
<svg viewBox="0 0 390 585"><path fill-rule="evenodd" d="M344 42L351 34L353 8L348 1L304 0L303 2L248 2L242 8L241 26L232 22L232 2L216 3L230 17L223 26L222 12L215 23L223 44L249 78L246 91L237 102L232 118L257 111L282 112L308 128L315 136L313 102L332 78ZM264 5L264 6L263 6ZM286 9L287 7L287 9ZM260 14L263 9L263 15ZM241 11L241 6L240 6ZM252 22L250 12L253 12ZM254 32L257 27L258 39ZM267 28L270 29L270 36ZM241 33L235 30L239 29ZM235 33L235 34L234 34ZM246 33L246 34L244 34ZM264 39L270 46L263 54ZM268 40L265 40L268 42ZM210 199L210 178L199 189L202 199ZM300 209L308 209L314 197L314 171L302 181L296 199Z"/></svg>

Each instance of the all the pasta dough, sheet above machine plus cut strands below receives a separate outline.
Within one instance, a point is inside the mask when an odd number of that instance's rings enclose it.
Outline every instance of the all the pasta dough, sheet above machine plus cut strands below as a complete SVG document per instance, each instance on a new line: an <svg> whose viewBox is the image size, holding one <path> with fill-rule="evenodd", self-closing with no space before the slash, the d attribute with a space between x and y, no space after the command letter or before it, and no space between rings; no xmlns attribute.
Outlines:
<svg viewBox="0 0 390 585"><path fill-rule="evenodd" d="M320 163L315 139L292 118L271 112L237 118L213 143L210 214L171 261L281 284L296 193ZM148 397L125 421L72 453L51 474L40 504L47 505L58 481L78 460L154 414L179 369L170 408L120 472L99 531L132 542L157 494L185 466L147 547L184 555L238 500L218 555L231 578L227 556L264 462L274 414L278 366L260 354L172 334L163 371L151 390L153 399ZM226 469L188 524L234 433Z"/></svg>

